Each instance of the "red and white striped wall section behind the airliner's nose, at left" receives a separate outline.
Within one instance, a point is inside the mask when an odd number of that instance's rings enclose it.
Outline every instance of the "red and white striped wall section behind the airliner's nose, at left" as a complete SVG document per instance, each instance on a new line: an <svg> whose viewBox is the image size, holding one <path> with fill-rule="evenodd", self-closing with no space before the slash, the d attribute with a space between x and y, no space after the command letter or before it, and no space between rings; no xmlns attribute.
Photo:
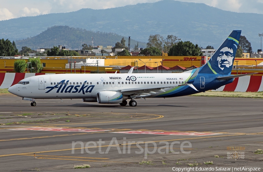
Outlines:
<svg viewBox="0 0 263 172"><path fill-rule="evenodd" d="M55 73L0 73L0 88L9 88L24 78L45 74Z"/></svg>

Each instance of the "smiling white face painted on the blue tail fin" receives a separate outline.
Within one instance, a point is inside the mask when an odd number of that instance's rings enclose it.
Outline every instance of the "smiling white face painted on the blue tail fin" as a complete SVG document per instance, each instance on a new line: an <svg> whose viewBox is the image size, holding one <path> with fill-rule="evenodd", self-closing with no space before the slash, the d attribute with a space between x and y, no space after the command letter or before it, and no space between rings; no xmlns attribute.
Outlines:
<svg viewBox="0 0 263 172"><path fill-rule="evenodd" d="M233 65L233 49L224 47L220 50L219 56L217 57L218 67L224 70L225 67L229 68Z"/></svg>

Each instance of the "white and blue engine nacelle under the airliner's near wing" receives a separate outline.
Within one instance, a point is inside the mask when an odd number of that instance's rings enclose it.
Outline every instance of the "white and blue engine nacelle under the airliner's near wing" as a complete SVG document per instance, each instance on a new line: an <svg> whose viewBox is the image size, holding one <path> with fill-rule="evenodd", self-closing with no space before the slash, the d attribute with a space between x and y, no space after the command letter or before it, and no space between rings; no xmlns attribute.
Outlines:
<svg viewBox="0 0 263 172"><path fill-rule="evenodd" d="M115 91L101 91L97 93L98 103L121 103L127 100L128 96L123 95L121 92Z"/></svg>

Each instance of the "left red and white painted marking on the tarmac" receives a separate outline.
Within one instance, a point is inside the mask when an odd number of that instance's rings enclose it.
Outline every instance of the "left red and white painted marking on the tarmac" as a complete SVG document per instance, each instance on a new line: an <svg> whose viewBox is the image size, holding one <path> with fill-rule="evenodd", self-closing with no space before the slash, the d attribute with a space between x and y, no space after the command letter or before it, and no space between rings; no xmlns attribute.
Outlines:
<svg viewBox="0 0 263 172"><path fill-rule="evenodd" d="M47 127L28 127L28 128L15 128L11 130L32 130L32 131L63 131L63 132L98 132L110 130L97 130L97 129L74 129L74 128L47 128Z"/></svg>

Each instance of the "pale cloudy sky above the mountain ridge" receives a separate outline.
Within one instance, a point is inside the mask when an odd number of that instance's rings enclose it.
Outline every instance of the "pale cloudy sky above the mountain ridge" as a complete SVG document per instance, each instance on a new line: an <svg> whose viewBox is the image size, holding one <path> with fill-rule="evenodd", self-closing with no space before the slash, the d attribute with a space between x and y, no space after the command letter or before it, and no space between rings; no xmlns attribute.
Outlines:
<svg viewBox="0 0 263 172"><path fill-rule="evenodd" d="M106 9L129 4L156 2L158 0L0 0L0 20L35 16L49 13L65 13L82 8ZM263 14L263 0L179 0L205 3L222 10Z"/></svg>

